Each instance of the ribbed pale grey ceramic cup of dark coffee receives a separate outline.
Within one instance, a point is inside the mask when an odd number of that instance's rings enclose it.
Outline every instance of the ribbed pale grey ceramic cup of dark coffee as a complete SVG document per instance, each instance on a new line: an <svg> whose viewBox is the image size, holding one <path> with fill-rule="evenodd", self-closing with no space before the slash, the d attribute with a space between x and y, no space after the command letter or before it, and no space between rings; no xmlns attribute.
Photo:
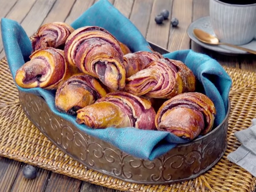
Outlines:
<svg viewBox="0 0 256 192"><path fill-rule="evenodd" d="M256 3L237 5L210 0L210 20L220 42L247 44L256 35Z"/></svg>

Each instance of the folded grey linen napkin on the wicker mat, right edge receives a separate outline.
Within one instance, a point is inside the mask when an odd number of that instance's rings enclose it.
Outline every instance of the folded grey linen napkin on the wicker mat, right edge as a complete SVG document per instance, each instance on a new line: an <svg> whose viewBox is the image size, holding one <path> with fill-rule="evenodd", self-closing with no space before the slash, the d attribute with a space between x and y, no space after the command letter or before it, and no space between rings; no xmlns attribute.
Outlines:
<svg viewBox="0 0 256 192"><path fill-rule="evenodd" d="M228 154L228 160L243 167L256 177L256 119L248 129L235 133L242 145L236 151Z"/></svg>

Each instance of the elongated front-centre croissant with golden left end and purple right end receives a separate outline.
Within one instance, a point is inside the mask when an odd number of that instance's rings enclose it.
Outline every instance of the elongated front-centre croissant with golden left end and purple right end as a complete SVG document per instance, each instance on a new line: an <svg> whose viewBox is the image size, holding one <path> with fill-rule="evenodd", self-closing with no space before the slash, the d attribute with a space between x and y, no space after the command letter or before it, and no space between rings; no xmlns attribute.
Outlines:
<svg viewBox="0 0 256 192"><path fill-rule="evenodd" d="M77 111L76 121L92 128L135 127L155 129L156 112L150 101L127 92L108 93Z"/></svg>

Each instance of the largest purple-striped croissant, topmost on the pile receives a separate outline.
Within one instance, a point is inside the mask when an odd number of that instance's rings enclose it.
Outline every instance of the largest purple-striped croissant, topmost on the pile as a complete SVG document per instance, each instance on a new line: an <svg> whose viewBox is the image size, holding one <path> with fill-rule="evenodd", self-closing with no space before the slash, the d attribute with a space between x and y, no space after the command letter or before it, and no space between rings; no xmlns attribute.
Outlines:
<svg viewBox="0 0 256 192"><path fill-rule="evenodd" d="M68 62L85 74L99 78L113 90L125 86L123 52L119 42L100 27L76 29L65 44Z"/></svg>

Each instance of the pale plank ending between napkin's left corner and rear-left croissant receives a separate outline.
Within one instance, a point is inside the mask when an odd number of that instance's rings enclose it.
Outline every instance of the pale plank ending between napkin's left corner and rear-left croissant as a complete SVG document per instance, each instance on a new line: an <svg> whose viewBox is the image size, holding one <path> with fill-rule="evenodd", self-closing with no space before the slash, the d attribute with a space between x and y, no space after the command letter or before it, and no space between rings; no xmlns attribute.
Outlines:
<svg viewBox="0 0 256 192"><path fill-rule="evenodd" d="M51 10L56 0L37 0L31 10L28 12L26 18L21 22L28 36L32 36L41 26L44 18Z"/></svg>

